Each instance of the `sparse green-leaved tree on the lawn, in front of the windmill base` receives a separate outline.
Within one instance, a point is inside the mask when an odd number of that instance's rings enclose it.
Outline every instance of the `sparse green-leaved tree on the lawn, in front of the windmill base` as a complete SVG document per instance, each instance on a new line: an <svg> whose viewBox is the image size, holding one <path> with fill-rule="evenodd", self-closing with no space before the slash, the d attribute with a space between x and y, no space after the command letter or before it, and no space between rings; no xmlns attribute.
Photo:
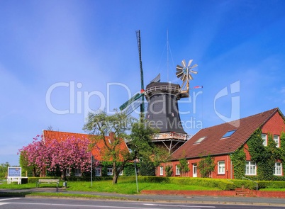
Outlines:
<svg viewBox="0 0 285 209"><path fill-rule="evenodd" d="M118 182L118 176L128 162L136 159L147 161L153 154L151 139L155 131L145 124L125 113L89 113L88 122L83 129L94 135L91 147L96 146L99 141L104 142L105 146L100 154L104 161L112 163L113 184ZM106 137L110 132L113 132L112 142L108 142ZM125 142L128 143L130 152L128 149L121 149Z"/></svg>

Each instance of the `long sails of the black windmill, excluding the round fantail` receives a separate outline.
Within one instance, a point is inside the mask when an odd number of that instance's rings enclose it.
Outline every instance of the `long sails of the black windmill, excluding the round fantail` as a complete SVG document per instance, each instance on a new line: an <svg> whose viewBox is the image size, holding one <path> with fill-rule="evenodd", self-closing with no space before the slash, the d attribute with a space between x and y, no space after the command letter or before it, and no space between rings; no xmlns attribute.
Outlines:
<svg viewBox="0 0 285 209"><path fill-rule="evenodd" d="M135 109L137 109L140 106L140 118L144 118L145 113L145 86L143 84L143 62L142 62L142 53L140 48L140 30L135 31L137 35L137 41L138 41L138 56L140 61L140 93L135 94L132 96L128 101L123 103L119 109L120 111L124 112L127 115L130 115ZM160 74L155 77L155 79L152 79L150 83L152 82L159 82L160 81Z"/></svg>

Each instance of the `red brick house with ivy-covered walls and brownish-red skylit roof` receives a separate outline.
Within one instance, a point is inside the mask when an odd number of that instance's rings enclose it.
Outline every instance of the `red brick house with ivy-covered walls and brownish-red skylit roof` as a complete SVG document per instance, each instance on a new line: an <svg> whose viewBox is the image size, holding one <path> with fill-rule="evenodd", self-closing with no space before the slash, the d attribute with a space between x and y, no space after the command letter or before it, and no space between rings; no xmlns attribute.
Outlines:
<svg viewBox="0 0 285 209"><path fill-rule="evenodd" d="M285 132L285 118L279 108L274 108L230 123L199 130L196 135L172 153L170 162L160 164L157 167L156 175L167 176L167 166L172 166L172 176L201 177L198 169L199 162L203 157L211 156L214 160L215 169L209 177L235 179L235 168L231 155L237 150L243 149L243 152L245 152L243 175L257 176L258 166L256 162L252 161L248 150L248 140L256 130L262 132L263 141L261 140L261 143L263 143L263 146L268 145L269 135L272 135L276 147L284 152L285 149L281 149L281 134ZM180 173L179 159L186 159L189 166L188 172ZM280 159L276 159L274 167L268 169L272 169L275 176L284 176Z"/></svg>

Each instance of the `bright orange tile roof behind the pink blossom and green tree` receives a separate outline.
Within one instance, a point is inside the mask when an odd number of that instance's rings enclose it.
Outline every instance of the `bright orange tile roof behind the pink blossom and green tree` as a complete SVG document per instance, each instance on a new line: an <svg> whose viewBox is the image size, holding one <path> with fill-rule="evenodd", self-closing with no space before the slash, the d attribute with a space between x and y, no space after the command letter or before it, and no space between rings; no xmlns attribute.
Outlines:
<svg viewBox="0 0 285 209"><path fill-rule="evenodd" d="M49 142L50 140L65 140L67 138L77 138L78 140L84 140L84 139L88 139L91 142L91 139L94 137L96 137L95 135L88 135L88 134L82 134L82 133L75 133L75 132L61 132L61 131L54 131L54 130L43 130L43 139L45 140L45 142ZM106 137L106 142L107 144L109 144L109 142L111 142L112 137L111 137L111 133L109 136L105 136ZM98 140L98 142L96 142L96 146L92 149L92 154L94 155L94 158L96 160L99 160L100 162L104 161L104 159L102 158L102 152L105 152L106 149L105 145L104 145L104 141L103 140ZM120 144L120 146L118 147L118 149L120 149L123 152L128 152L128 147L125 144L125 142L122 140L122 143ZM122 157L122 156L121 156ZM121 158L122 159L122 158Z"/></svg>

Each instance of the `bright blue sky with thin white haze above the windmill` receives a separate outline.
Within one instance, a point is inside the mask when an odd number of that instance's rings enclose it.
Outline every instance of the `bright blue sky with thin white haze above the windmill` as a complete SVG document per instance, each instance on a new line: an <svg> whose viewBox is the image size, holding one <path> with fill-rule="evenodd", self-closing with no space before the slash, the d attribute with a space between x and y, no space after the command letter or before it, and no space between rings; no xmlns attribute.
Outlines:
<svg viewBox="0 0 285 209"><path fill-rule="evenodd" d="M179 102L189 135L285 113L284 10L281 0L0 1L0 163L17 165L49 126L84 132L89 109L111 112L140 91L135 30L145 85L158 73L181 84L176 65L199 65L190 85L203 89Z"/></svg>

